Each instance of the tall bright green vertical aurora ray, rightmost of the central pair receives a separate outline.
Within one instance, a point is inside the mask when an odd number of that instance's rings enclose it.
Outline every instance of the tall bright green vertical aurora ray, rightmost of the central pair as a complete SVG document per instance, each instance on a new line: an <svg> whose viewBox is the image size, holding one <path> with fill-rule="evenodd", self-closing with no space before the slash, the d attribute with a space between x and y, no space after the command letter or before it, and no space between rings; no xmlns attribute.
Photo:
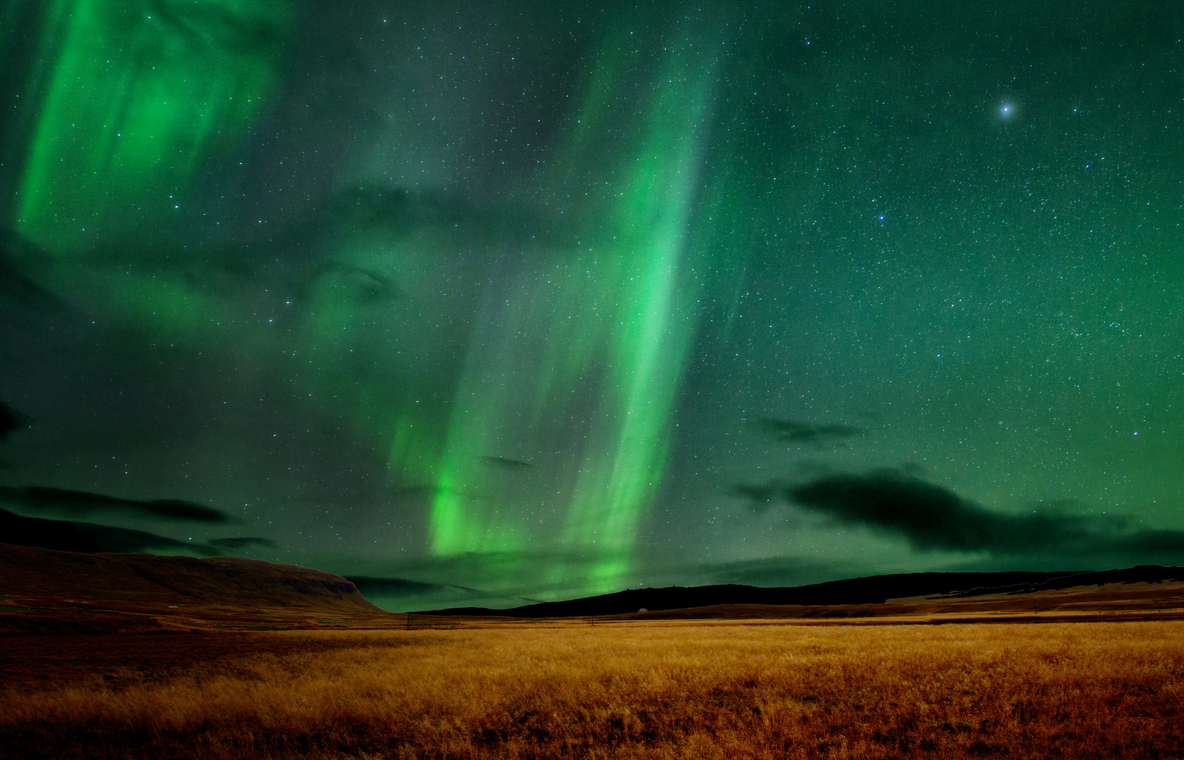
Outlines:
<svg viewBox="0 0 1184 760"><path fill-rule="evenodd" d="M687 45L683 50L689 50ZM607 590L629 569L638 522L657 491L670 439L670 413L687 361L694 292L680 289L695 202L710 67L675 53L665 85L619 193L613 228L623 298L614 315L609 399L580 466L565 526L568 542L590 542L590 591Z"/></svg>

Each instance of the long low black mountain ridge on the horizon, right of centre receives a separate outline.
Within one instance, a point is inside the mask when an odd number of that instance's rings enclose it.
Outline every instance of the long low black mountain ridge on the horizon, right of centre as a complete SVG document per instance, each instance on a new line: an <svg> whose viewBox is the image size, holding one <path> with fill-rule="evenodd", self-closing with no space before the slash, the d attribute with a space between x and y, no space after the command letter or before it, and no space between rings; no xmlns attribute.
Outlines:
<svg viewBox="0 0 1184 760"><path fill-rule="evenodd" d="M950 595L973 597L993 593L1024 593L1072 586L1133 584L1184 580L1184 567L1138 567L1112 571L999 572L999 573L902 573L834 580L809 586L762 588L759 586L670 586L630 588L611 594L545 601L509 610L451 607L416 614L498 616L511 618L566 618L628 614L646 610L687 610L715 605L857 605L883 604L888 599Z"/></svg>

